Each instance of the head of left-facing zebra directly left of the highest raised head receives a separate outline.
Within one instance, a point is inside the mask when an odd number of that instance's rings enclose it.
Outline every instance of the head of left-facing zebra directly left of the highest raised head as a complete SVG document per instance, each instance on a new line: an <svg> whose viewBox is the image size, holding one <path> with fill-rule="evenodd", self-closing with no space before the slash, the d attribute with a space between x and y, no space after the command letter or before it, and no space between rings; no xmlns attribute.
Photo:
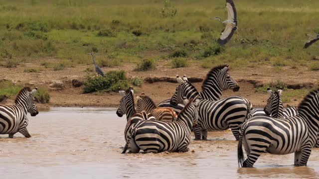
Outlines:
<svg viewBox="0 0 319 179"><path fill-rule="evenodd" d="M196 98L199 96L197 89L192 86L188 81L183 81L178 87L176 87L175 93L170 98L169 103L176 106L179 103L183 103L184 96L187 99Z"/></svg>

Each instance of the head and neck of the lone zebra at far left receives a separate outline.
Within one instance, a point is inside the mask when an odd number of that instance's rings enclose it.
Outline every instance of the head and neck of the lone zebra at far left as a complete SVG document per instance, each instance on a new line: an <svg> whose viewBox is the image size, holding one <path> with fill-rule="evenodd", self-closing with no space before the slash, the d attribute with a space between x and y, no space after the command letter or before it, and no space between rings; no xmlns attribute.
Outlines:
<svg viewBox="0 0 319 179"><path fill-rule="evenodd" d="M24 87L21 89L15 98L15 104L23 106L26 108L26 111L31 114L31 116L36 116L39 111L35 106L35 99L33 94L37 91L37 88L30 89L29 87Z"/></svg>

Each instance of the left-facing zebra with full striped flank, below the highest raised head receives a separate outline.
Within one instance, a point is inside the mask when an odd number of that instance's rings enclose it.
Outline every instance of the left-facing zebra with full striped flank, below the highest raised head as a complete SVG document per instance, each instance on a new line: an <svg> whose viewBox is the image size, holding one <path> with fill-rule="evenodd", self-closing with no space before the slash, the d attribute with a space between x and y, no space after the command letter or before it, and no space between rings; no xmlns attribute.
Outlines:
<svg viewBox="0 0 319 179"><path fill-rule="evenodd" d="M201 99L199 92L189 82L180 84L172 96L170 103L176 105L187 99L199 98L198 125L194 128L195 140L207 139L207 130L220 131L231 129L236 140L239 140L239 129L252 109L252 104L240 96L229 96L216 101Z"/></svg>

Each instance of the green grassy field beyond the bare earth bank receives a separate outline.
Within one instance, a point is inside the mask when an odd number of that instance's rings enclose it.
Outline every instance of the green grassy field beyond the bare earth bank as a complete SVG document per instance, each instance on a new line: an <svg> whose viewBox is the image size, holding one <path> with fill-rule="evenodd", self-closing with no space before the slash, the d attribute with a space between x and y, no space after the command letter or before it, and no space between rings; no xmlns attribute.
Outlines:
<svg viewBox="0 0 319 179"><path fill-rule="evenodd" d="M52 57L72 66L91 63L95 52L99 64L118 66L183 51L178 58L203 68L319 69L319 43L303 49L307 34L319 33L318 0L234 2L239 30L220 48L215 40L224 26L210 18L226 18L225 0L0 0L0 63L45 62L58 70Z"/></svg>

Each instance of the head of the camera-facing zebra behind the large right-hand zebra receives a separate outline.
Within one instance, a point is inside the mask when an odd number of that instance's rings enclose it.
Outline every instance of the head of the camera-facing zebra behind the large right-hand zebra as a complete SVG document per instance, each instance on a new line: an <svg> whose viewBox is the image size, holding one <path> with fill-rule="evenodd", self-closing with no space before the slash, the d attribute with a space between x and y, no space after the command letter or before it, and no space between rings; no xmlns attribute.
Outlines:
<svg viewBox="0 0 319 179"><path fill-rule="evenodd" d="M280 110L280 106L282 106L282 101L280 96L282 95L283 90L278 89L278 91L272 91L270 88L267 89L267 93L269 97L267 99L267 104L264 108L264 112L267 115L271 115L272 117L278 117L276 114Z"/></svg>

